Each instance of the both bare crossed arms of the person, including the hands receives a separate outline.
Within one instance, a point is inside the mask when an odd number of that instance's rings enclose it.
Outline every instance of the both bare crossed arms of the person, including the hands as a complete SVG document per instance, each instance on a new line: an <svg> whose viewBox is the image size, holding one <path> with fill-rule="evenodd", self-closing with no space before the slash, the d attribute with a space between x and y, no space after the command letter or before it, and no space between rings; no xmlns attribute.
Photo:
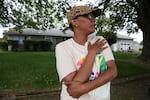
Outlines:
<svg viewBox="0 0 150 100"><path fill-rule="evenodd" d="M106 62L107 71L101 74L101 77L88 81L96 54L106 48L103 47L105 45L104 41L101 41L101 45L98 45L97 42L89 46L88 54L82 67L78 71L70 73L62 80L67 85L69 95L74 98L79 98L81 95L102 86L117 76L115 61L109 60Z"/></svg>

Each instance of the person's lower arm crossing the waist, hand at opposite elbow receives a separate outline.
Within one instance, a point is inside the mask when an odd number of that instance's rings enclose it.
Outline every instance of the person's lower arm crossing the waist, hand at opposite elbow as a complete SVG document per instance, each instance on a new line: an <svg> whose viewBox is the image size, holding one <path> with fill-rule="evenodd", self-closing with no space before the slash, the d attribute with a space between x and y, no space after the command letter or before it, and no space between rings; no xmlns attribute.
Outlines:
<svg viewBox="0 0 150 100"><path fill-rule="evenodd" d="M109 66L111 65L111 66ZM117 69L116 65L113 60L110 60L107 62L108 69L106 72L101 74L101 77L98 77L94 79L93 81L87 81L87 82L80 82L80 81L75 81L72 79L72 81L67 81L64 80L65 84L68 86L67 91L70 96L74 98L79 98L81 95L88 93L89 91L104 85L105 83L111 81L117 76ZM70 75L76 75L78 72L73 72ZM67 78L67 77L66 77ZM78 87L78 88L77 88Z"/></svg>

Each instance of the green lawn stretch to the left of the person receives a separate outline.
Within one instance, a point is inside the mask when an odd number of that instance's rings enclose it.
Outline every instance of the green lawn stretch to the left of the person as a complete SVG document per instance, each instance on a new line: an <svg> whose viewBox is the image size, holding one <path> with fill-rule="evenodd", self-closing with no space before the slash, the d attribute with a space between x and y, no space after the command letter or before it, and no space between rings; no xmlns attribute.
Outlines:
<svg viewBox="0 0 150 100"><path fill-rule="evenodd" d="M0 53L0 89L51 89L59 85L54 53Z"/></svg>

